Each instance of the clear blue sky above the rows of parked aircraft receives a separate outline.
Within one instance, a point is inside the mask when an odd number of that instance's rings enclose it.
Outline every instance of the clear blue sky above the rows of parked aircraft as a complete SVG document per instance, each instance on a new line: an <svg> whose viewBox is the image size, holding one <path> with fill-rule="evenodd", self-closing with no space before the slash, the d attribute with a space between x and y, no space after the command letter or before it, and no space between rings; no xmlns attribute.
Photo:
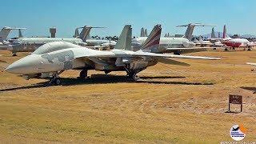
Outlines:
<svg viewBox="0 0 256 144"><path fill-rule="evenodd" d="M162 24L163 32L184 34L175 26L189 22L216 24L231 34L256 34L255 0L1 0L0 26L26 27L26 36L49 35L58 28L58 37L71 37L78 26L106 26L92 34L119 35L126 24L134 35L142 26ZM211 27L196 28L194 34L210 33ZM16 33L15 33L16 34ZM13 34L12 34L13 35Z"/></svg>

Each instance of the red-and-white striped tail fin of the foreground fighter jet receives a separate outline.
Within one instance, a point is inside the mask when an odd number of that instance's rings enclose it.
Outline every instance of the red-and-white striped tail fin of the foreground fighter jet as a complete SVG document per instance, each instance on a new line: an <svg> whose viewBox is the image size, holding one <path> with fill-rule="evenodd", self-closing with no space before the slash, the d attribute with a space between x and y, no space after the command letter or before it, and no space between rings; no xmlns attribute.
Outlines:
<svg viewBox="0 0 256 144"><path fill-rule="evenodd" d="M158 51L162 27L161 25L154 26L146 41L143 43L141 50L143 51Z"/></svg>

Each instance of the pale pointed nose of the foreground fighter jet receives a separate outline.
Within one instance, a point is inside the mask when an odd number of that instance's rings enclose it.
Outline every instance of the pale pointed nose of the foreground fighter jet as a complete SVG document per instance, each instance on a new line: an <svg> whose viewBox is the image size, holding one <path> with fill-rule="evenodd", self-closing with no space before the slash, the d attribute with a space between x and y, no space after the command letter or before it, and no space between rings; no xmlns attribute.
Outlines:
<svg viewBox="0 0 256 144"><path fill-rule="evenodd" d="M12 74L33 74L36 72L34 66L38 65L38 62L40 62L39 58L40 57L35 54L28 55L12 63L5 71Z"/></svg>

